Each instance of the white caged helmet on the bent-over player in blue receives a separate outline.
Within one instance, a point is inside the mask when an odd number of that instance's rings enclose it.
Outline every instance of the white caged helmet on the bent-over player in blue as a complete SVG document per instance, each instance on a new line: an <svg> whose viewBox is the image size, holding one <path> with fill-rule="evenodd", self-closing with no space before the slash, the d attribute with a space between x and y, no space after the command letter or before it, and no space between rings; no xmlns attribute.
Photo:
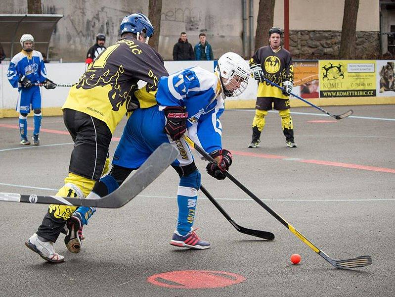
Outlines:
<svg viewBox="0 0 395 297"><path fill-rule="evenodd" d="M216 71L222 78L222 91L226 97L239 96L247 88L250 67L237 53L226 52L221 55Z"/></svg>

